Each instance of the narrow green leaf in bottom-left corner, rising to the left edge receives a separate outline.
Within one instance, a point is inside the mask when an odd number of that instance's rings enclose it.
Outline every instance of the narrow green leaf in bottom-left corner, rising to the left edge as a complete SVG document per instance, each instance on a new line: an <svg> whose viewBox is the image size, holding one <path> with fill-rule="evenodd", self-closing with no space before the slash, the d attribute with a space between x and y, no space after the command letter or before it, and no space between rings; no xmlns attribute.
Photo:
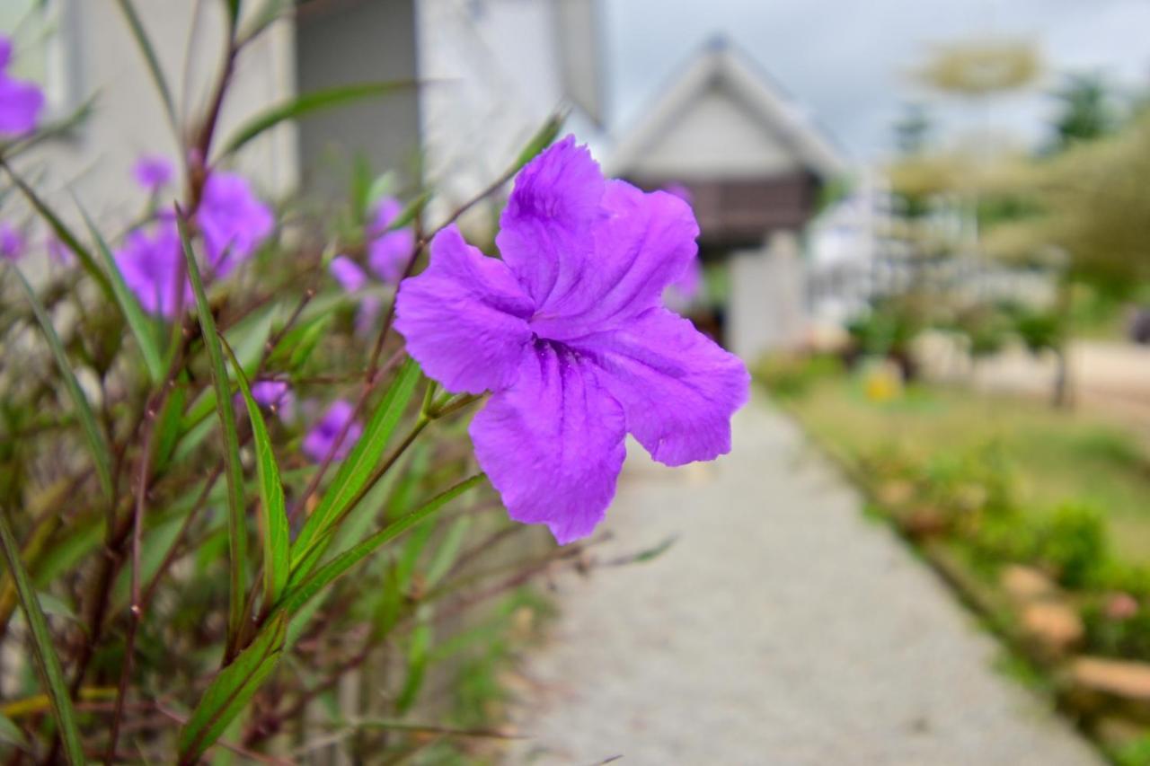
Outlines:
<svg viewBox="0 0 1150 766"><path fill-rule="evenodd" d="M48 621L40 608L40 602L32 589L28 570L24 569L24 562L20 558L20 547L16 545L16 538L8 526L8 518L2 512L0 512L0 549L2 549L8 572L16 583L16 596L20 598L20 606L28 620L28 627L32 635L32 658L36 661L36 669L40 674L40 682L52 700L52 712L60 727L64 757L68 758L69 764L83 764L84 745L79 738L79 729L76 727L76 712L72 710L71 696L68 694L68 682L64 680L56 649L52 645Z"/></svg>

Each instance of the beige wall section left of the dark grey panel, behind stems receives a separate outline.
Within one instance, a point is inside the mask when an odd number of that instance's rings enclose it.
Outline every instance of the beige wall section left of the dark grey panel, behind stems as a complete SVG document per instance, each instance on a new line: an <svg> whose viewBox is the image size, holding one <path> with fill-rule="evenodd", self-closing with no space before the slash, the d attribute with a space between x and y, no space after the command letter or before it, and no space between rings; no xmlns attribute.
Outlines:
<svg viewBox="0 0 1150 766"><path fill-rule="evenodd" d="M176 160L178 144L116 3L56 1L57 33L62 37L49 44L62 44L62 53L69 58L67 70L72 82L68 86L74 91L69 100L80 104L94 94L94 109L74 133L45 143L25 158L22 169L32 174L37 189L62 212L72 210L71 192L100 220L126 222L138 214L144 200L131 177L132 164L145 153ZM190 116L201 114L221 64L223 3L147 0L135 5L186 129ZM218 144L245 118L292 94L290 23L278 22L238 60L221 113ZM245 147L237 167L260 193L278 196L296 184L296 158L292 128L281 125ZM75 220L75 215L69 217Z"/></svg>

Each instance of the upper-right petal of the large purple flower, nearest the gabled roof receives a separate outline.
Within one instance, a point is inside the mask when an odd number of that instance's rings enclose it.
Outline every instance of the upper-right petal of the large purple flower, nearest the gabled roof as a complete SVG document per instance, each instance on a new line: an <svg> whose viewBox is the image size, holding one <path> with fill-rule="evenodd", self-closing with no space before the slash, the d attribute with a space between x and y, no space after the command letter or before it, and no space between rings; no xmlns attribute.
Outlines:
<svg viewBox="0 0 1150 766"><path fill-rule="evenodd" d="M690 206L674 194L610 181L601 206L610 216L589 232L592 268L551 292L531 323L543 337L577 338L631 321L661 305L664 290L695 260L699 227Z"/></svg>

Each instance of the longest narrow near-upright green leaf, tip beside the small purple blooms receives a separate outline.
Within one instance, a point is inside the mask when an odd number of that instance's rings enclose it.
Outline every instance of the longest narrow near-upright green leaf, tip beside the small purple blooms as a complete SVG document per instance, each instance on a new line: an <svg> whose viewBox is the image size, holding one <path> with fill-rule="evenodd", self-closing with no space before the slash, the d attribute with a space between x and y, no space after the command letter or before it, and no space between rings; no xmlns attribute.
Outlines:
<svg viewBox="0 0 1150 766"><path fill-rule="evenodd" d="M239 462L239 435L236 431L236 413L231 407L231 393L228 385L228 371L223 365L223 351L220 336L216 334L212 306L204 291L204 277L195 262L195 253L187 237L187 223L183 213L176 216L179 227L179 240L184 246L184 262L187 265L187 276L195 293L195 307L204 334L204 347L207 348L212 362L212 384L215 389L216 414L224 438L224 475L228 478L228 562L229 562L229 608L228 608L228 646L232 646L244 625L244 591L246 577L244 574L244 557L247 551L247 518L244 513L244 468Z"/></svg>

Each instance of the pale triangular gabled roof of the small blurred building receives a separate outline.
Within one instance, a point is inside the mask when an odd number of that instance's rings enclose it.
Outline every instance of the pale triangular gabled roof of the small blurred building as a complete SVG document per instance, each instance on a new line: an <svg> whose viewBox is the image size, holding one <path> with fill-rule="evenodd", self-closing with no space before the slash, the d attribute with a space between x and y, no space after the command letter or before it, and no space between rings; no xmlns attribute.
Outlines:
<svg viewBox="0 0 1150 766"><path fill-rule="evenodd" d="M696 133L684 135L690 130ZM657 160L660 152L665 156ZM845 170L807 113L726 38L696 54L622 136L608 164L618 175L674 175L668 168L676 154L683 158L683 176L804 169L828 178ZM653 173L652 163L658 166Z"/></svg>

